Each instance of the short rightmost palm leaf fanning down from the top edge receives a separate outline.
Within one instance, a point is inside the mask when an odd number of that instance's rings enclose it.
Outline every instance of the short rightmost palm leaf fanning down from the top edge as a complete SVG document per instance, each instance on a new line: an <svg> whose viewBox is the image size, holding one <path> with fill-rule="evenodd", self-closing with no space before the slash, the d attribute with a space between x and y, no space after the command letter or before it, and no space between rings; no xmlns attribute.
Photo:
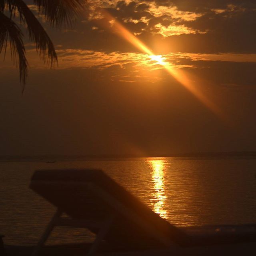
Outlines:
<svg viewBox="0 0 256 256"><path fill-rule="evenodd" d="M86 0L34 0L34 3L40 14L57 27L72 26L86 6Z"/></svg>

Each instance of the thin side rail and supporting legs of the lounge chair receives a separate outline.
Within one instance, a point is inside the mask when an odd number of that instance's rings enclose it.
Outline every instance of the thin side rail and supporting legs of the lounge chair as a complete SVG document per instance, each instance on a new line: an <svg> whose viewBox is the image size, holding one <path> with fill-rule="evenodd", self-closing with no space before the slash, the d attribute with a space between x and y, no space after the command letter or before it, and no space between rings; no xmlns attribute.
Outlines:
<svg viewBox="0 0 256 256"><path fill-rule="evenodd" d="M78 182L61 182L61 181L33 181L33 182L40 182L47 183L47 184L56 184L56 185L77 185ZM171 247L176 245L170 238L167 238L166 236L163 236L160 232L157 232L154 228L152 228L141 216L138 214L132 212L129 208L125 207L121 202L116 200L114 197L112 197L108 192L103 190L100 186L97 186L94 183L91 182L79 182L79 184L83 186L87 186L89 190L91 190L93 193L100 196L105 202L110 204L116 212L123 214L127 218L131 219L132 221L136 222L141 228L146 230L149 234L152 235L156 240L158 240L161 244L163 244L165 247ZM105 220L97 220L97 219L74 219L74 218L67 218L67 217L61 217L61 215L64 213L63 210L60 208L57 208L54 216L50 220L49 224L47 225L44 233L42 234L40 240L38 241L38 244L34 248L31 256L38 256L40 249L44 246L45 242L49 238L52 230L56 226L68 226L73 228L99 228L98 234L96 234L96 238L94 242L92 243L88 253L86 256L93 255L99 248L100 243L102 240L104 240L104 237L106 236L110 226L112 225L115 213L112 212L107 216Z"/></svg>

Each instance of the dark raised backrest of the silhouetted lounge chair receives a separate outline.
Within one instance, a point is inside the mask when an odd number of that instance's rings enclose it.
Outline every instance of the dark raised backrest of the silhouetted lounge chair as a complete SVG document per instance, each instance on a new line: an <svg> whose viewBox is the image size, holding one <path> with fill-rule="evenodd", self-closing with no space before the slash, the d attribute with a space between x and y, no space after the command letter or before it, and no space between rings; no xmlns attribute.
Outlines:
<svg viewBox="0 0 256 256"><path fill-rule="evenodd" d="M116 248L159 248L188 243L184 232L150 210L102 170L37 170L30 188L74 219L104 220L114 214L105 240Z"/></svg>

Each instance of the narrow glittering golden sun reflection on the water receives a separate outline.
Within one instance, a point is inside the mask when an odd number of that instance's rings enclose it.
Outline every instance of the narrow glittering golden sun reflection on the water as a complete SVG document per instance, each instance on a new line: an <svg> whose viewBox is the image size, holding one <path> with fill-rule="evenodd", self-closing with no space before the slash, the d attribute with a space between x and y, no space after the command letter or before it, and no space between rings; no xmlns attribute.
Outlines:
<svg viewBox="0 0 256 256"><path fill-rule="evenodd" d="M164 180L164 165L163 160L148 160L148 164L152 169L152 182L154 183L154 192L152 194L153 210L162 218L167 217L165 194L165 180Z"/></svg>

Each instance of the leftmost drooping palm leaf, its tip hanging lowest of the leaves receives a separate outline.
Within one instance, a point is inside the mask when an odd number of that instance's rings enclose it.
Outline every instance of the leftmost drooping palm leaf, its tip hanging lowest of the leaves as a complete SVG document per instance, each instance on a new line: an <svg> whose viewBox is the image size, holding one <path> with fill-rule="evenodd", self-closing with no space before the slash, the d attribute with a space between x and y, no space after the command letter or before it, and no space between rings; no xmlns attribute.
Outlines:
<svg viewBox="0 0 256 256"><path fill-rule="evenodd" d="M20 83L23 92L26 77L28 76L28 62L22 38L23 34L20 28L10 18L0 12L0 53L3 49L6 50L6 43L9 40L12 60L20 70Z"/></svg>

